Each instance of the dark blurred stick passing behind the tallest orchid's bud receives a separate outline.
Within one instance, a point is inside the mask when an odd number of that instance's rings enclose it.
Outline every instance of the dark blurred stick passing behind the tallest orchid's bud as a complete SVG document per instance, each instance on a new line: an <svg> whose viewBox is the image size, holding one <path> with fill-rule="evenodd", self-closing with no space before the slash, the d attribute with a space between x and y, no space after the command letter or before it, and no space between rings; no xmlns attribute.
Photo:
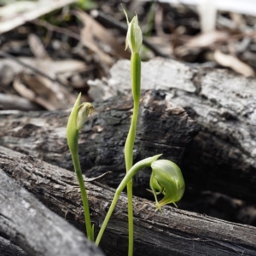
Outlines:
<svg viewBox="0 0 256 256"><path fill-rule="evenodd" d="M119 22L118 20L113 19L113 17L111 17L109 15L105 15L101 11L92 10L90 12L90 15L94 19L96 19L98 22L101 22L102 24L109 25L109 26L112 26L114 28L117 28L117 29L119 29L120 32L122 32L124 34L127 32L127 25L125 25L122 22ZM159 49L154 47L153 44L150 44L146 38L143 38L143 44L145 44L148 47L148 49L151 49L154 52L154 55L161 56L161 57L164 57L164 58L173 59L173 57L171 55L165 55Z"/></svg>

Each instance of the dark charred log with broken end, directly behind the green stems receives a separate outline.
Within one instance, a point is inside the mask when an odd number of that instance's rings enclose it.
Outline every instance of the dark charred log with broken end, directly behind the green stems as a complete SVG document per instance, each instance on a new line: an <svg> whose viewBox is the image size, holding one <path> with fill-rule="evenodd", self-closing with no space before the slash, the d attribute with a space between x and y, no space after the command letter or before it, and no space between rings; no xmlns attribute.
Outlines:
<svg viewBox="0 0 256 256"><path fill-rule="evenodd" d="M79 156L86 176L112 171L109 183L117 186L125 176L124 145L131 123L131 96L96 102L96 112L79 135ZM0 112L0 144L49 163L73 170L67 148L66 125L69 111ZM199 126L183 108L166 102L158 91L143 96L137 127L134 159L155 154L180 164L183 152ZM150 173L140 173L135 186L147 185ZM146 192L146 189L143 189ZM148 193L149 194L149 193Z"/></svg>

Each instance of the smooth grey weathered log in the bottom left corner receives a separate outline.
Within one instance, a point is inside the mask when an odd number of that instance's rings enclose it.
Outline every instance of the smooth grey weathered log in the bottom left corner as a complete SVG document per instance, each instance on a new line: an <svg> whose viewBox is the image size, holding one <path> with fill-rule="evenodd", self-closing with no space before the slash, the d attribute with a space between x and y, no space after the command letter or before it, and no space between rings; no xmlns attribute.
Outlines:
<svg viewBox="0 0 256 256"><path fill-rule="evenodd" d="M1 236L15 242L29 255L103 255L99 248L87 241L84 234L49 211L2 169L0 183ZM9 254L3 251L1 255Z"/></svg>

